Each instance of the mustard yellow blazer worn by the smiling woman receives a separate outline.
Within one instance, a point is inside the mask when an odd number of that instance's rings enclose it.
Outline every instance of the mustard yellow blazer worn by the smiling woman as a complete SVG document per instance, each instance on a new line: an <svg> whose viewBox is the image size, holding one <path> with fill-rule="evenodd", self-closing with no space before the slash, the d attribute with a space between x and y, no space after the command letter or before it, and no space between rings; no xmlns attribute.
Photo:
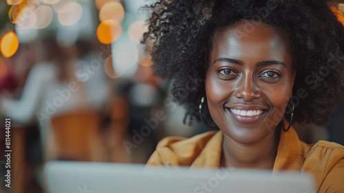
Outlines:
<svg viewBox="0 0 344 193"><path fill-rule="evenodd" d="M166 137L158 143L147 165L220 167L222 132L193 136ZM273 172L296 170L313 174L316 192L344 192L344 147L319 141L308 145L290 128L281 132Z"/></svg>

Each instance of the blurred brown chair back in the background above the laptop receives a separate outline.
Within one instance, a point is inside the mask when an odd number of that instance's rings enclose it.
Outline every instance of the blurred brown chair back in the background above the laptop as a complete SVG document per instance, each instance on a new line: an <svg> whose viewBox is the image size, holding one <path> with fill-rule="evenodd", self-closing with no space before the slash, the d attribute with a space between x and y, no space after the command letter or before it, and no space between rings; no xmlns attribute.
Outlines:
<svg viewBox="0 0 344 193"><path fill-rule="evenodd" d="M98 112L80 110L56 115L52 128L58 159L105 161Z"/></svg>

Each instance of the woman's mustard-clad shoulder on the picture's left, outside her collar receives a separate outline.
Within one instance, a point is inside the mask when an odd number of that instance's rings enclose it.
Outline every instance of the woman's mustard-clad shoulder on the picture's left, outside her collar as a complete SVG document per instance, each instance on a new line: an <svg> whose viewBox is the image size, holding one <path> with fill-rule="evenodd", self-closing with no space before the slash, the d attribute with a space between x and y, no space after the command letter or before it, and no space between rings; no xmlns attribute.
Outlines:
<svg viewBox="0 0 344 193"><path fill-rule="evenodd" d="M167 136L162 139L147 165L191 165L217 132L205 132L191 138Z"/></svg>

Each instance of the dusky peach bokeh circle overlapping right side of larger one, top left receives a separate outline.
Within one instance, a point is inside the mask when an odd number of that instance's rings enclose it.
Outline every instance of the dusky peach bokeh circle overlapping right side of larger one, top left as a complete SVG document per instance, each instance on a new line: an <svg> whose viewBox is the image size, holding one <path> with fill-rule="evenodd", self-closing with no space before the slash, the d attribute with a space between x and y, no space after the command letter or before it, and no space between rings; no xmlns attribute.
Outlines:
<svg viewBox="0 0 344 193"><path fill-rule="evenodd" d="M34 28L36 29L43 29L52 23L52 8L50 6L40 6L36 9L36 26Z"/></svg>

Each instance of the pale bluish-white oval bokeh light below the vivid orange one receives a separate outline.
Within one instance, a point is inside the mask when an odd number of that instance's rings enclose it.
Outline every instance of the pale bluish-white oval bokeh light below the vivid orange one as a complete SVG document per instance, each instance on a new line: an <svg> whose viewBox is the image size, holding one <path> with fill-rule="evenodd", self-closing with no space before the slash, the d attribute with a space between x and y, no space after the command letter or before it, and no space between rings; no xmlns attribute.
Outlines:
<svg viewBox="0 0 344 193"><path fill-rule="evenodd" d="M134 43L125 43L116 50L113 59L114 69L123 77L131 77L138 68L138 48Z"/></svg>

